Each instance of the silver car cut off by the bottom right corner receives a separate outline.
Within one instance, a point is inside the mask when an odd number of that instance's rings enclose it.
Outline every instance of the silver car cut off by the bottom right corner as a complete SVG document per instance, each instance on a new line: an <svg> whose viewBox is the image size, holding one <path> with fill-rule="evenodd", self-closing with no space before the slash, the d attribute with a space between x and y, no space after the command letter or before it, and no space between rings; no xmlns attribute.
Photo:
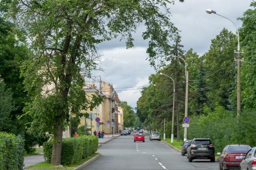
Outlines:
<svg viewBox="0 0 256 170"><path fill-rule="evenodd" d="M256 169L256 147L248 151L245 159L240 163L241 170L253 170Z"/></svg>

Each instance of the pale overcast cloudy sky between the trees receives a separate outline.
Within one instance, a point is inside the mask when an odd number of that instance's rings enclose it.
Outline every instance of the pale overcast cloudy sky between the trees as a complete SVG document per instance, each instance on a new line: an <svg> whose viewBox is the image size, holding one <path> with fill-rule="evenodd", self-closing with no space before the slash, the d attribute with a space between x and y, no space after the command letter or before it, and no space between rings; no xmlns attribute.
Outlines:
<svg viewBox="0 0 256 170"><path fill-rule="evenodd" d="M236 32L236 28L230 21L215 14L207 14L206 9L215 10L218 14L233 20L237 26L241 26L240 20L243 12L249 8L251 0L185 0L176 2L171 6L171 21L181 31L184 50L193 48L200 55L207 52L211 40L223 28ZM147 42L142 40L141 25L135 33L135 47L126 49L124 42L112 40L99 45L102 54L100 67L104 71L100 74L102 80L112 83L120 100L127 101L132 107L141 96L141 89L129 90L148 85L148 76L155 73L150 67L147 58ZM123 91L121 91L123 90Z"/></svg>

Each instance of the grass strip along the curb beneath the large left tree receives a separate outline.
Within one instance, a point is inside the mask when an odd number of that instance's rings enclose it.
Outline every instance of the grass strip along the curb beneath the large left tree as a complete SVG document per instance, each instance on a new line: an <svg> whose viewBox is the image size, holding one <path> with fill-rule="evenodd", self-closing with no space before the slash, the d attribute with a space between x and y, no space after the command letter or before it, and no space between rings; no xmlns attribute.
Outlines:
<svg viewBox="0 0 256 170"><path fill-rule="evenodd" d="M58 165L58 166L52 166L50 165L49 163L47 162L41 162L41 163L38 163L36 165L32 165L32 166L29 166L28 168L26 169L75 169L76 167L78 167L79 165L82 165L82 163L85 163L87 162L87 160L93 158L94 156L96 156L97 154L99 153L94 153L92 154L91 156L88 156L87 158L85 159L80 159L78 160L78 162L72 164L72 165Z"/></svg>

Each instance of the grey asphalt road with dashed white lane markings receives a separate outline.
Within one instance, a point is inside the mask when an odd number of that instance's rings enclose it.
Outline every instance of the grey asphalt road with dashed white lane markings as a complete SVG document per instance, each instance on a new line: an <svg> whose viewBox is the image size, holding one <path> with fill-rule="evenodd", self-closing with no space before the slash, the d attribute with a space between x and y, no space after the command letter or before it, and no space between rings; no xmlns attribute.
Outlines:
<svg viewBox="0 0 256 170"><path fill-rule="evenodd" d="M218 170L218 163L210 160L193 160L189 163L186 156L181 156L161 141L150 141L145 136L145 142L133 142L133 135L120 136L98 150L102 157L86 169L125 170Z"/></svg>

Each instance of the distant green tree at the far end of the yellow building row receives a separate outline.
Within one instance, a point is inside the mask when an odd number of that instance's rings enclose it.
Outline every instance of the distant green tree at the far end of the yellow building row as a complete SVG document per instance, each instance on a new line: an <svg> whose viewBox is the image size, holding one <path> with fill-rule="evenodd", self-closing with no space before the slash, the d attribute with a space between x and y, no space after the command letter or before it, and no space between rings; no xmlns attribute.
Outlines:
<svg viewBox="0 0 256 170"><path fill-rule="evenodd" d="M124 127L133 127L135 123L135 112L127 102L120 102L119 106L124 109Z"/></svg>

